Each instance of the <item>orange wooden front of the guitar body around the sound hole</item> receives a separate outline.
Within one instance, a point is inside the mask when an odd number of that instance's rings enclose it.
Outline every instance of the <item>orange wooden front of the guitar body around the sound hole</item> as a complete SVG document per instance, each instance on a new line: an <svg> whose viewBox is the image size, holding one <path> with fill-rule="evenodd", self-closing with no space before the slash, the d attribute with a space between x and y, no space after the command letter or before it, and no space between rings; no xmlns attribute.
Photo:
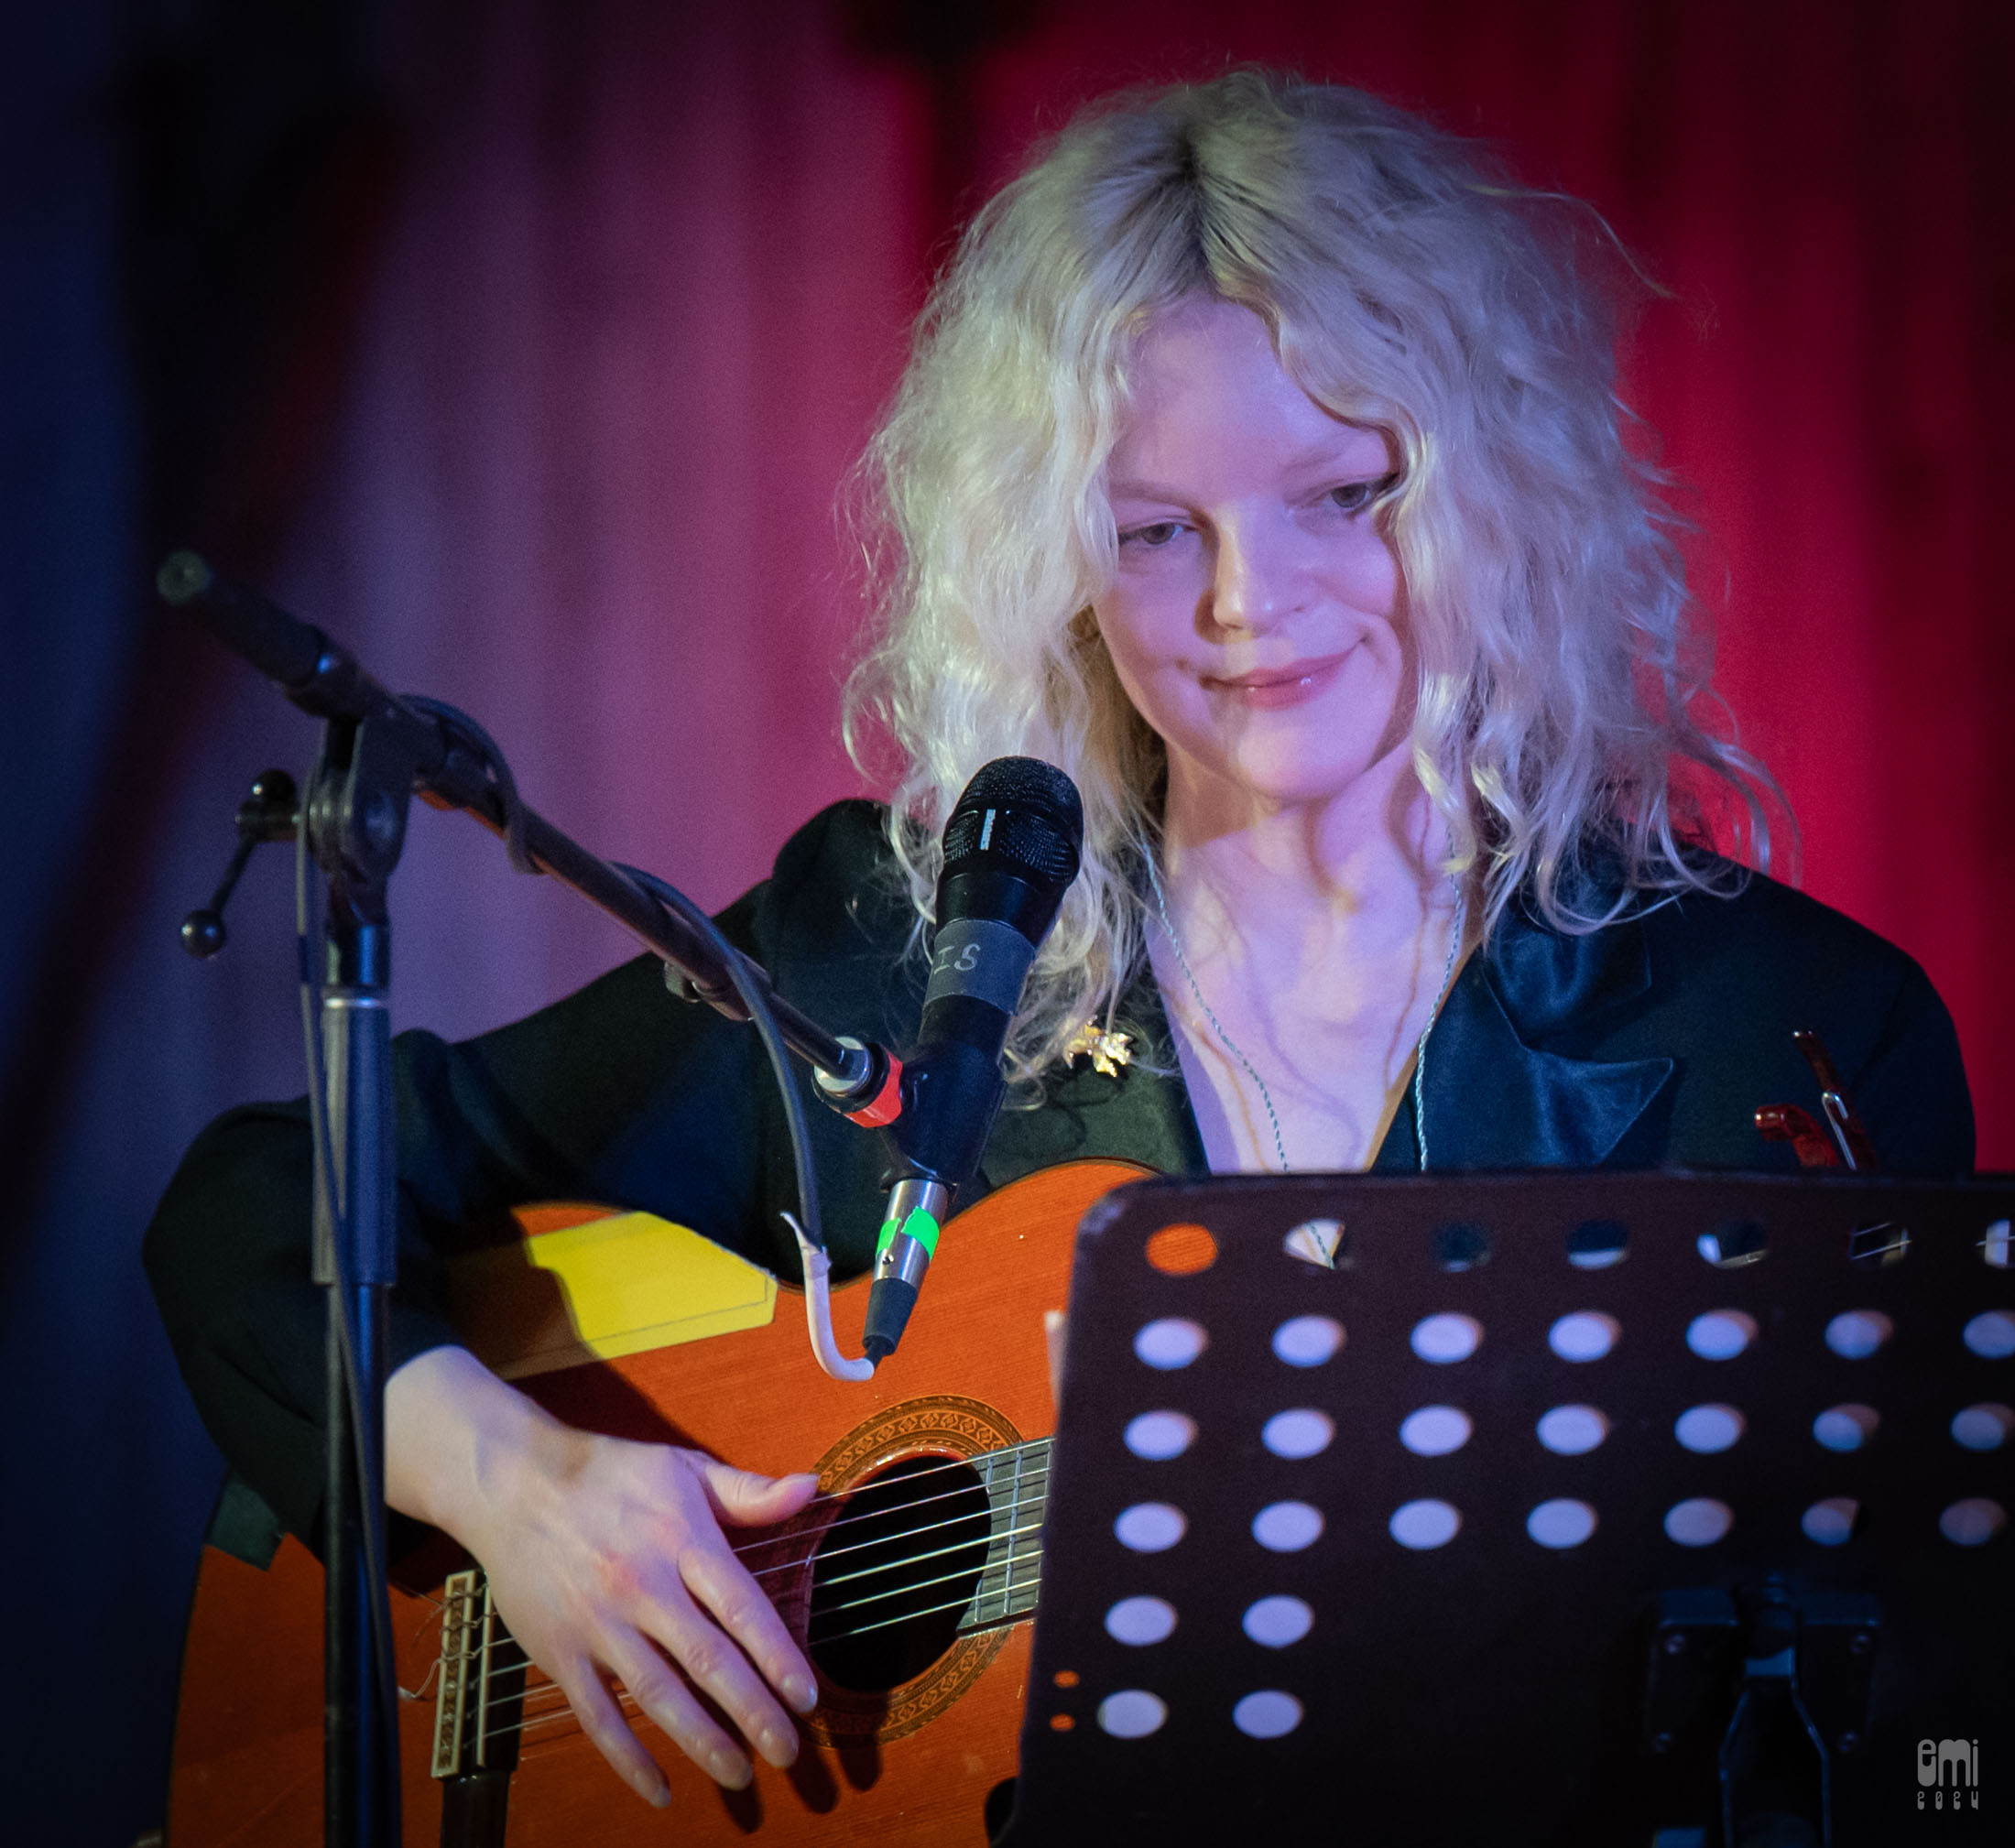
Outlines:
<svg viewBox="0 0 2015 1848"><path fill-rule="evenodd" d="M961 1213L945 1231L901 1350L868 1382L818 1370L802 1298L784 1292L764 1326L542 1372L520 1387L588 1429L691 1445L770 1475L818 1469L824 1493L887 1475L891 1465L901 1475L905 1459L917 1459L907 1467L921 1471L953 1457L1020 1457L1028 1441L1054 1429L1042 1318L1064 1306L1078 1219L1102 1193L1145 1173L1128 1163L1068 1163ZM860 1350L864 1314L864 1280L834 1292L844 1352ZM953 1505L967 1522L961 1534L977 1520L983 1538L983 1499L971 1515L977 1481L953 1475L969 1483L967 1503ZM842 1520L846 1505L814 1505L772 1542L776 1552L750 1556L752 1564L784 1562L764 1582L800 1642L808 1622L812 1636L820 1634L810 1550L828 1546L820 1524ZM735 1546L750 1538L727 1532ZM1032 1526L1028 1534L1012 1564L1034 1558ZM965 1544L963 1558L975 1558L977 1544ZM1001 1558L999 1544L993 1556ZM961 1580L955 1596L963 1590ZM848 1608L844 1592L816 1596L828 1610ZM441 1598L395 1590L391 1602L399 1685L425 1689L425 1699L401 1701L405 1840L419 1848L439 1840L441 1826L441 1784L431 1769ZM746 1792L719 1790L627 1707L671 1781L669 1814L617 1779L564 1715L556 1691L540 1695L534 1675L506 1840L510 1848L750 1838L778 1848L846 1840L983 1848L987 1792L1016 1771L1030 1602L1032 1588L1003 1596L995 1620L975 1620L955 1638L939 1618L949 1646L935 1661L907 1665L915 1673L889 1687L862 1687L877 1677L854 1659L844 1659L852 1663L846 1679L834 1681L828 1659L814 1651L820 1705L800 1721L798 1761L776 1771L758 1757ZM826 1622L830 1630L830 1614ZM294 1540L264 1572L204 1552L183 1655L167 1840L173 1848L314 1848L322 1840L322 1574Z"/></svg>

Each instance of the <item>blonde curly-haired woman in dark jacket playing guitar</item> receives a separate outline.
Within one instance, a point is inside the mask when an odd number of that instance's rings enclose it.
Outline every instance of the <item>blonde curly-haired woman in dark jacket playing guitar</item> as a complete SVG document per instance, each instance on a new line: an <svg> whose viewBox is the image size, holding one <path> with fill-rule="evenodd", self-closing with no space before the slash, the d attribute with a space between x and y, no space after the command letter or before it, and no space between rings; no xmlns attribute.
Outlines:
<svg viewBox="0 0 2015 1848"><path fill-rule="evenodd" d="M1084 871L985 1185L1070 1155L1779 1167L1753 1110L1809 1084L1795 1028L1892 1169L1969 1169L1922 971L1709 846L1729 824L1767 859L1771 788L1703 723L1674 524L1614 395L1626 278L1586 208L1354 91L1233 73L1074 121L967 232L862 474L881 611L850 723L893 740L893 802L812 820L727 933L814 1018L901 1044L949 806L1036 756L1082 792ZM594 1197L792 1274L760 1054L649 959L399 1058L421 1249ZM879 1157L814 1131L864 1268ZM222 1118L149 1266L220 1445L312 1534L304 1151L298 1106ZM558 1425L455 1346L435 1270L393 1318L393 1505L486 1564L643 1796L665 1781L604 1673L721 1784L752 1767L693 1687L788 1763L814 1679L721 1522L810 1479Z"/></svg>

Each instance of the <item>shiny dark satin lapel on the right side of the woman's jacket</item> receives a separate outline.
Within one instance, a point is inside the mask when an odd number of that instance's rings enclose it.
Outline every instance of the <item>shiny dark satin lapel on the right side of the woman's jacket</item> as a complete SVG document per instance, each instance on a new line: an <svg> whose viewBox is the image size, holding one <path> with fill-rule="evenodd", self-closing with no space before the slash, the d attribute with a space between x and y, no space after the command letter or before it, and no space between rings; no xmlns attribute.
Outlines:
<svg viewBox="0 0 2015 1848"><path fill-rule="evenodd" d="M1427 1040L1429 1167L1600 1167L1670 1080L1672 1060L1570 1058L1546 1042L1646 987L1640 923L1568 937L1523 913L1505 917Z"/></svg>

